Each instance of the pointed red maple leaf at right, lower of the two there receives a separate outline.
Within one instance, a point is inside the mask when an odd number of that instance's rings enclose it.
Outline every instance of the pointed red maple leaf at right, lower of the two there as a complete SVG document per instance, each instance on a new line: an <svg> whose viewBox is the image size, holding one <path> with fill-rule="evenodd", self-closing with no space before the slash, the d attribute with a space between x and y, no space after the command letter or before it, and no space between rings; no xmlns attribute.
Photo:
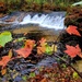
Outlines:
<svg viewBox="0 0 82 82"><path fill-rule="evenodd" d="M75 47L66 45L67 50L65 50L66 54L68 54L71 58L74 58L77 55L81 54L81 49L79 45Z"/></svg>

